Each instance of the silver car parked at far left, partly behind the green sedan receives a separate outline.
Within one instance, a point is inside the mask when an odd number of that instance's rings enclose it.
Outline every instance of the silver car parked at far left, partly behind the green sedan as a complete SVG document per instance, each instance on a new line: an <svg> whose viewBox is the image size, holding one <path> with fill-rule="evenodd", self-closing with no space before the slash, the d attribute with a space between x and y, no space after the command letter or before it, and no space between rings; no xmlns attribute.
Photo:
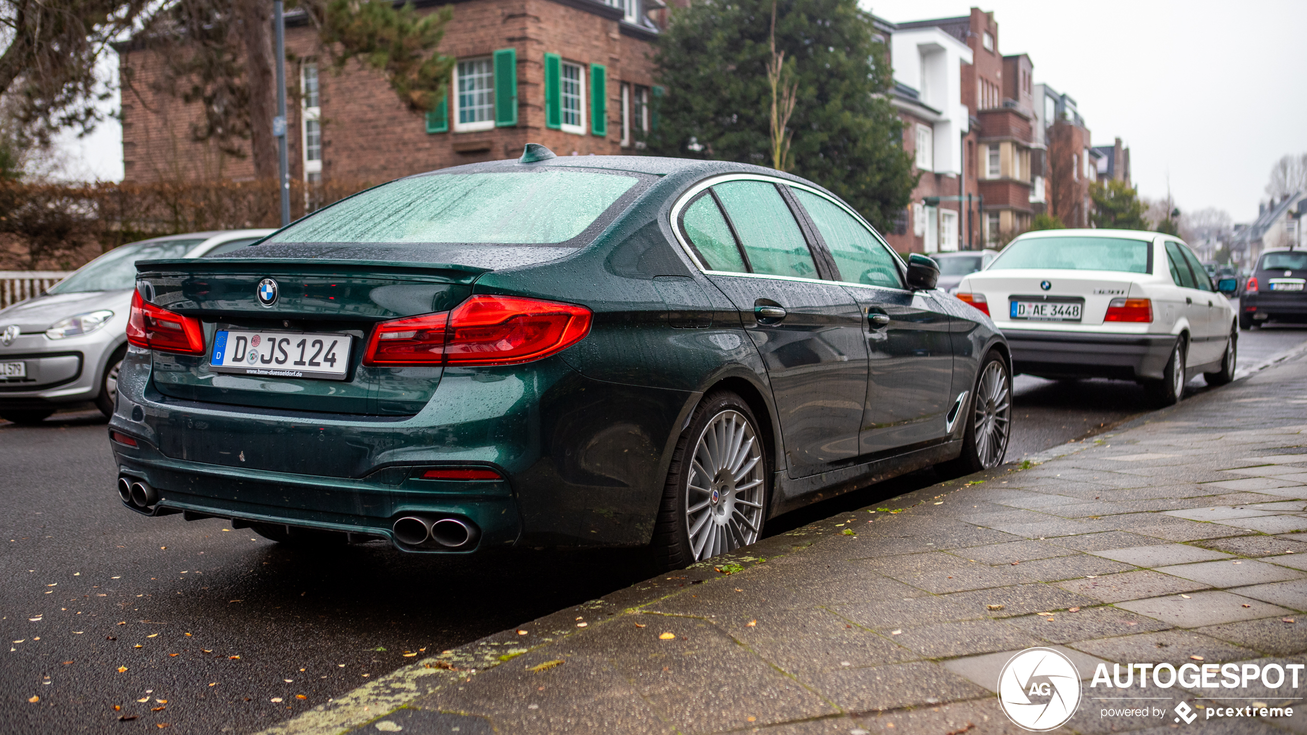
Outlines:
<svg viewBox="0 0 1307 735"><path fill-rule="evenodd" d="M188 232L128 243L44 294L0 311L0 418L33 424L86 401L112 415L136 261L214 256L271 232Z"/></svg>

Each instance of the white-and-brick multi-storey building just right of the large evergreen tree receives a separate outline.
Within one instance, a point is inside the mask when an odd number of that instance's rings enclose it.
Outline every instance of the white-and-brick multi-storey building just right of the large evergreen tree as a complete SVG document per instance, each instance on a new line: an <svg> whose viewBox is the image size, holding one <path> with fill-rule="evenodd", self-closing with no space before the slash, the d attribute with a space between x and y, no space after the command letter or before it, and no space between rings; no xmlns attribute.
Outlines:
<svg viewBox="0 0 1307 735"><path fill-rule="evenodd" d="M979 249L1027 230L1042 162L1030 57L1002 56L999 23L979 8L953 18L884 25L891 35L893 99L904 121L903 144L923 172L908 226L889 235L890 244L918 252ZM946 99L933 69L949 80ZM932 140L933 161L919 153ZM941 158L941 149L950 155ZM933 197L950 198L932 206Z"/></svg>

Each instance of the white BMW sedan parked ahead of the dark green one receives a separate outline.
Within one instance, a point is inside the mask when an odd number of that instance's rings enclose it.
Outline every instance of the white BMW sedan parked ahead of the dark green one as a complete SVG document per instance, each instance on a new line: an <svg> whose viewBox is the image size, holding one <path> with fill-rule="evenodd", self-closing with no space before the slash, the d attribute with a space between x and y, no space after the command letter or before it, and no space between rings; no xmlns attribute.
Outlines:
<svg viewBox="0 0 1307 735"><path fill-rule="evenodd" d="M1171 235L1026 232L963 278L957 296L1008 337L1013 372L1134 380L1157 406L1179 401L1200 372L1209 385L1234 379L1236 315Z"/></svg>

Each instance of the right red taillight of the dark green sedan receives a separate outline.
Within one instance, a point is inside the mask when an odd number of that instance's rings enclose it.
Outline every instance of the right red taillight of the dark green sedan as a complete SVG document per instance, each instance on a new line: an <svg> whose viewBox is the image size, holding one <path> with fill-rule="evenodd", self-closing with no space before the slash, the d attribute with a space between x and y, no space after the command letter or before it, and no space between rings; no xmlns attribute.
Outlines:
<svg viewBox="0 0 1307 735"><path fill-rule="evenodd" d="M507 366L562 351L589 333L586 307L472 296L454 311L383 321L363 352L367 366Z"/></svg>

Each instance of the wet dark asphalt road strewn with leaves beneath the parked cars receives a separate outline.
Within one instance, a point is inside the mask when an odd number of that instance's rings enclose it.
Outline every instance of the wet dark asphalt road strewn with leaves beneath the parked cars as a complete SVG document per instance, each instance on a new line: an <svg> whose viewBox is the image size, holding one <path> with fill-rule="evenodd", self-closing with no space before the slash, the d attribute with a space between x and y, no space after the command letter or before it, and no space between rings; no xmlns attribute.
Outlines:
<svg viewBox="0 0 1307 735"><path fill-rule="evenodd" d="M1244 332L1240 364L1304 339L1307 329ZM1141 399L1133 384L1019 377L1008 458L1129 419ZM392 671L405 653L444 650L648 576L631 554L447 560L382 543L302 552L220 520L145 518L122 508L103 419L88 411L39 427L0 422L0 457L5 732L252 732ZM767 530L938 480L914 473Z"/></svg>

